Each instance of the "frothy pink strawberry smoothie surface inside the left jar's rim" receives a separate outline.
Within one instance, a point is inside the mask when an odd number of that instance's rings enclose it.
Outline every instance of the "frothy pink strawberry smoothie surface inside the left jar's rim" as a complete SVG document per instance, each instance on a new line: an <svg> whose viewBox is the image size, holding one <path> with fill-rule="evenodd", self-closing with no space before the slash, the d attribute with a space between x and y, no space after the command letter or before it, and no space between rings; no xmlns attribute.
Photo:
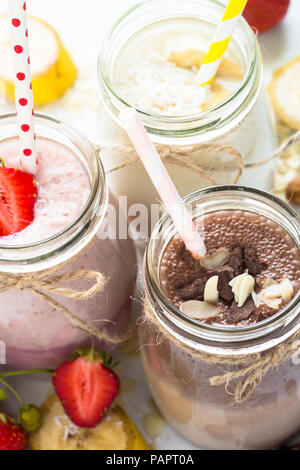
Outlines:
<svg viewBox="0 0 300 470"><path fill-rule="evenodd" d="M76 219L88 200L88 176L71 150L44 139L37 150L39 167L35 175L37 198L33 222L21 232L1 237L1 245L27 245L52 237ZM7 168L19 167L15 139L0 142L0 155Z"/></svg>

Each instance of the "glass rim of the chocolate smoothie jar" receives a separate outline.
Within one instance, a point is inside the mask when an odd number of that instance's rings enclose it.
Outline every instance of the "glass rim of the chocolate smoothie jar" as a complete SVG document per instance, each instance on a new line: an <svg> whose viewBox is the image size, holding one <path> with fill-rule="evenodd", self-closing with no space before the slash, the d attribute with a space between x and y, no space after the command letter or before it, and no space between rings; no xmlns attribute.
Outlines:
<svg viewBox="0 0 300 470"><path fill-rule="evenodd" d="M280 209L280 213L283 215L283 217L286 217L289 220L289 223L293 225L295 233L297 233L298 239L295 239L294 237L292 238L297 244L298 249L300 249L300 217L291 207L288 206L288 204L276 198L270 193L266 193L264 191L245 186L214 186L207 189L195 191L194 193L183 198L183 201L188 210L190 210L191 203L194 201L196 201L197 203L199 203L199 200L205 202L205 199L212 195L217 197L225 196L226 200L226 197L228 198L230 194L245 197L245 199L248 198L248 200L249 198L263 199L263 203L265 203L265 206L271 204L272 206L275 206ZM223 210L226 209L224 208ZM256 213L254 210L251 211L250 208L240 208L236 210L247 210L247 212ZM212 210L211 212L214 211ZM282 340L282 335L291 335L293 332L293 328L299 328L299 326L296 325L296 319L300 318L300 309L298 309L299 311L297 312L296 307L300 303L300 291L298 291L298 293L294 296L291 302L288 303L278 313L263 321L248 326L237 327L208 325L200 323L185 316L166 298L154 272L155 269L153 267L153 250L155 247L155 241L159 239L159 236L164 230L163 227L169 227L168 241L165 241L164 244L165 250L166 246L172 239L174 233L176 233L175 227L170 219L170 216L167 213L163 215L163 217L160 219L151 234L151 238L145 252L143 273L146 294L148 298L150 298L151 301L159 307L159 314L155 312L154 308L152 309L153 314L156 316L159 322L164 324L165 321L167 321L169 324L169 330L170 328L172 328L172 326L174 326L174 328L178 329L180 336L182 334L185 335L187 333L191 337L203 340L204 344L206 345L214 344L216 346L222 343L223 345L226 344L227 347L231 350L234 344L238 344L240 342L245 344L246 349L249 349L251 348L250 343L253 339L264 338L267 335L270 335L270 337L272 337L271 341L276 342L276 331L280 329L280 327L283 327L284 330L284 327L290 325L289 332L282 331L282 334L277 337L277 342L280 342ZM285 229L285 231L289 233L287 229ZM291 233L289 233L289 235L291 235ZM261 345L261 347L264 348L265 344L266 343L264 342L264 345ZM209 349L210 347L208 347L208 350Z"/></svg>

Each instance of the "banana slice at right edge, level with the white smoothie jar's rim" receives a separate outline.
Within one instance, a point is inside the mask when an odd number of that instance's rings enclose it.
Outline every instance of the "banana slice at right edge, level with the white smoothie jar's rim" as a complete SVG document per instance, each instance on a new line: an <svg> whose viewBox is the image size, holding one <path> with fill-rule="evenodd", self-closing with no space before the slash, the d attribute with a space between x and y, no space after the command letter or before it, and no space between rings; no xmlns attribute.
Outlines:
<svg viewBox="0 0 300 470"><path fill-rule="evenodd" d="M276 70L269 94L278 117L300 130L300 56Z"/></svg>

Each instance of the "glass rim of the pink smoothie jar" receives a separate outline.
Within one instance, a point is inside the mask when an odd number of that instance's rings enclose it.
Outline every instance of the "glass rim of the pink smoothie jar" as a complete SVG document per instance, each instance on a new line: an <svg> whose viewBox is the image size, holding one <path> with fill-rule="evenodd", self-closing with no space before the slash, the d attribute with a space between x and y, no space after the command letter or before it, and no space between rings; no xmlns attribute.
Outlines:
<svg viewBox="0 0 300 470"><path fill-rule="evenodd" d="M78 216L69 224L67 225L64 229L60 230L59 232L55 233L54 235L40 240L38 242L33 242L30 244L23 244L23 245L5 245L0 243L0 253L3 254L4 252L7 253L8 258L6 261L8 263L12 263L13 261L25 261L25 259L22 258L22 254L24 251L30 252L30 250L34 249L42 249L42 252L37 258L35 256L33 258L30 257L27 259L26 258L26 264L30 260L30 263L33 263L35 259L41 261L42 258L46 256L47 253L47 247L52 247L51 249L55 250L61 248L62 244L65 244L65 238L66 236L70 235L70 239L73 237L78 237L79 232L78 228L79 225L82 224L87 224L88 219L97 212L97 208L94 209L93 206L101 206L101 214L98 214L100 216L99 223L97 224L97 227L100 224L100 221L102 220L105 209L107 207L107 202L108 202L108 189L107 189L107 183L106 183L106 176L105 176L105 171L99 156L99 153L96 151L92 143L85 137L80 131L75 129L73 126L70 126L69 124L66 124L65 122L61 121L60 119L57 119L53 116L50 116L45 113L40 113L40 112L35 112L35 122L36 122L36 134L39 136L39 134L43 134L44 132L50 132L55 131L58 132L61 136L66 137L67 139L74 144L76 147L77 151L84 155L84 153L88 154L91 156L91 161L93 162L93 168L90 168L94 172L92 180L90 179L90 193L88 196L87 201L85 202L83 208L81 209L80 213ZM14 126L13 132L10 132L9 135L5 136L3 139L0 136L0 139L5 140L5 139L10 139L10 138L17 138L18 137L18 132L17 132L17 127L15 126L16 124L16 113L15 112L10 112L6 114L2 114L0 116L0 124L5 125L5 124L10 124L11 126ZM41 138L47 139L48 137L45 135L41 135ZM55 137L51 138L49 137L50 140L55 141ZM62 144L68 147L68 144ZM79 146L82 147L79 148ZM88 163L88 162L85 162ZM68 243L70 243L70 239L68 239ZM11 258L9 257L13 255ZM19 256L18 256L19 254ZM2 258L2 256L1 256ZM2 261L2 260L1 260ZM0 266L0 269L2 270L2 266Z"/></svg>

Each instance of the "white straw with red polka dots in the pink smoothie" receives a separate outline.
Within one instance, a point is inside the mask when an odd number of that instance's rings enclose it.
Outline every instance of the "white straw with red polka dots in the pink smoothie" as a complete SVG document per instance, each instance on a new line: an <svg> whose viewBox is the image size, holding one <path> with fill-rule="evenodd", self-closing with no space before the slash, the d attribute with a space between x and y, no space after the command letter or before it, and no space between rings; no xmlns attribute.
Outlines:
<svg viewBox="0 0 300 470"><path fill-rule="evenodd" d="M37 170L37 155L26 2L24 0L9 0L8 4L15 71L14 82L20 141L20 166L22 170L34 175Z"/></svg>

